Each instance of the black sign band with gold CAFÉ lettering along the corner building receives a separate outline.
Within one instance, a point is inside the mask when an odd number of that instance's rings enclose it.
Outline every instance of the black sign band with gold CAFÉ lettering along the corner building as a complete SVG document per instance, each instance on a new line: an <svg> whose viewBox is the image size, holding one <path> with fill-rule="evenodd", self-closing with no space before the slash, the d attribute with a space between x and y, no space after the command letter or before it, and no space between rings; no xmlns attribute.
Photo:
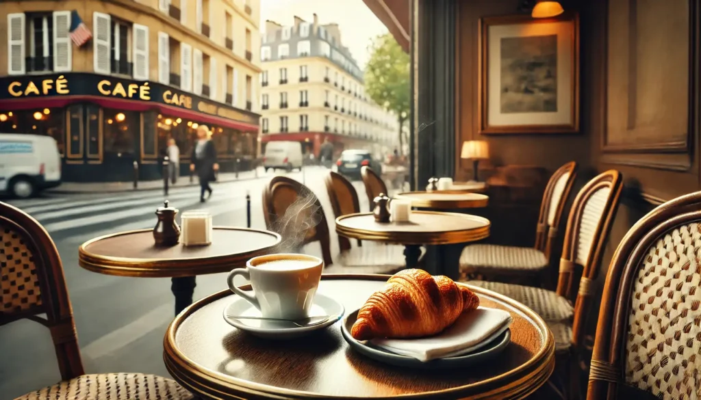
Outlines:
<svg viewBox="0 0 701 400"><path fill-rule="evenodd" d="M258 123L252 113L238 110L226 104L217 104L196 95L175 90L168 85L98 74L74 73L57 76L8 76L0 78L0 99L27 97L60 97L83 95L131 99L139 102L156 102L199 111L212 116L245 123Z"/></svg>

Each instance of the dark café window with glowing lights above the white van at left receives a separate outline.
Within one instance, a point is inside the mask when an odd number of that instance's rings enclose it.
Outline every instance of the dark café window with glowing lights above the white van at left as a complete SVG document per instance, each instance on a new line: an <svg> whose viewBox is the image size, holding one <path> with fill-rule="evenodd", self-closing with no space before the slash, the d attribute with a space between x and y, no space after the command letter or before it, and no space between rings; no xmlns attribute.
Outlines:
<svg viewBox="0 0 701 400"><path fill-rule="evenodd" d="M56 140L58 151L66 151L64 109L28 109L0 112L0 132L46 135Z"/></svg>

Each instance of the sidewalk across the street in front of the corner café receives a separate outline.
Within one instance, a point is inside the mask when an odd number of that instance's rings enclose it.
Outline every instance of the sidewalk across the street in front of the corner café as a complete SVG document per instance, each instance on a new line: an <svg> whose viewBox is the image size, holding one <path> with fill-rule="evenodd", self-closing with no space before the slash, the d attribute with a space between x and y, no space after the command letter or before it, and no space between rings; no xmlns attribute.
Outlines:
<svg viewBox="0 0 701 400"><path fill-rule="evenodd" d="M251 179L259 179L265 177L266 174L263 168L259 168L254 171L244 171L238 173L238 178L234 172L222 172L219 174L217 182L233 182L233 181L248 181ZM200 186L197 177L193 177L190 181L189 176L178 177L177 183L174 185L172 182L168 182L168 188L184 188L188 186ZM70 194L70 193L119 193L119 192L133 192L133 191L156 191L163 190L163 179L158 179L155 181L139 181L137 183L137 188L134 188L133 182L90 182L90 183L78 183L78 182L64 182L61 186L55 189L50 189L48 193L60 193L60 194Z"/></svg>

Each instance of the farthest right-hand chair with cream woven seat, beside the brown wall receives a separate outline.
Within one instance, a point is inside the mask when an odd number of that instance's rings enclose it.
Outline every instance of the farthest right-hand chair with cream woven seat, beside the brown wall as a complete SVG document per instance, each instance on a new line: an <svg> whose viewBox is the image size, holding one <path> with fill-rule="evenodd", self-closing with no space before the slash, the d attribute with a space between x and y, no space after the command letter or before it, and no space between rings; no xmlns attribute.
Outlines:
<svg viewBox="0 0 701 400"><path fill-rule="evenodd" d="M540 286L552 263L552 243L577 174L574 161L559 167L545 187L540 203L534 247L472 244L460 257L461 275L471 279L518 282Z"/></svg>

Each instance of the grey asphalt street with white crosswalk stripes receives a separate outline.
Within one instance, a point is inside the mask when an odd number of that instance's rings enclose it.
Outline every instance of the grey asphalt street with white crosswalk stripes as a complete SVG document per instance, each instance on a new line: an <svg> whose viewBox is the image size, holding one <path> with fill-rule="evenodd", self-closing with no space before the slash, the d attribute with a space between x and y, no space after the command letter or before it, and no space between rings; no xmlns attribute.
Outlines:
<svg viewBox="0 0 701 400"><path fill-rule="evenodd" d="M328 170L305 167L286 174L304 181L320 198L331 232L332 254L338 251L334 217L324 179ZM251 195L252 227L266 228L261 208L262 189L273 177L215 184L212 198L199 202L198 187L171 189L167 199L180 212L207 209L215 226L246 225L246 193ZM181 177L186 179L186 177ZM354 186L361 211L367 196L361 181ZM170 279L100 275L78 265L78 247L93 237L123 230L151 228L163 191L53 194L31 200L3 200L25 210L53 237L60 252L73 305L76 329L86 373L142 372L168 376L162 361L163 335L172 320L174 301ZM320 255L317 243L306 249ZM197 277L195 299L226 289L226 274ZM28 320L0 329L0 400L13 399L60 380L48 329Z"/></svg>

